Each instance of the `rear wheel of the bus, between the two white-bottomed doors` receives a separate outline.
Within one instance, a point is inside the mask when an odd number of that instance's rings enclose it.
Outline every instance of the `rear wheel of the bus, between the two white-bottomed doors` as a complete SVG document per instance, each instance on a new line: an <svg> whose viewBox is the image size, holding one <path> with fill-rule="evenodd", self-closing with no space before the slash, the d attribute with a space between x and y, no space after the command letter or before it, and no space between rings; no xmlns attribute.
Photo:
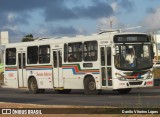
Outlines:
<svg viewBox="0 0 160 117"><path fill-rule="evenodd" d="M35 78L31 78L29 80L28 89L29 89L29 93L32 93L32 94L40 93L40 90L38 89L37 81Z"/></svg>

